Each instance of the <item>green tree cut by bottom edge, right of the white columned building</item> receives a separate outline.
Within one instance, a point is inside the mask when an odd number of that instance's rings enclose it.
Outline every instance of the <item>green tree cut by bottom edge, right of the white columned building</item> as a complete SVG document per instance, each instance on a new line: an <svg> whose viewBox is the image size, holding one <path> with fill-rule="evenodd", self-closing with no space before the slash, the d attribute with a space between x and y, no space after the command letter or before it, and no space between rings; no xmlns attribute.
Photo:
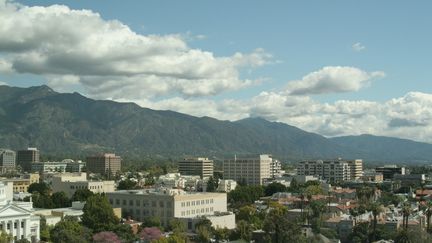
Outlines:
<svg viewBox="0 0 432 243"><path fill-rule="evenodd" d="M71 217L58 222L50 232L51 240L56 243L89 242L90 231Z"/></svg>

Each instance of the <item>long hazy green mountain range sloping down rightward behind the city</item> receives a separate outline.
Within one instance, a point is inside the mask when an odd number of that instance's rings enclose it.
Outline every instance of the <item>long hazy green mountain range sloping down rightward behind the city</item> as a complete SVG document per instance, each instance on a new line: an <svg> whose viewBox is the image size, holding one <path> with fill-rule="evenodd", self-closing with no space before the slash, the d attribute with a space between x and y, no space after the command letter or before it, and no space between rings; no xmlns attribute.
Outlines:
<svg viewBox="0 0 432 243"><path fill-rule="evenodd" d="M425 162L432 158L431 144L411 140L372 135L325 138L261 118L221 121L57 93L48 86L0 86L0 147L28 146L40 148L43 154L73 157L115 152L129 158L256 153L291 161L343 157Z"/></svg>

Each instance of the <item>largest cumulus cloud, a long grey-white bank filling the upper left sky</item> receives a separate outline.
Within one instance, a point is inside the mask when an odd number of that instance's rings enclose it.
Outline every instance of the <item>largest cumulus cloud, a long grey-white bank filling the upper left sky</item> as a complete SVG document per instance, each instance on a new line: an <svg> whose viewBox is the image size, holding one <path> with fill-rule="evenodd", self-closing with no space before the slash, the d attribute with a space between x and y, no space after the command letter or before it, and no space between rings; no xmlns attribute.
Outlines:
<svg viewBox="0 0 432 243"><path fill-rule="evenodd" d="M179 34L140 35L117 20L60 5L0 3L0 36L9 69L47 76L58 87L57 77L79 77L75 81L90 93L105 97L125 90L135 97L215 95L253 84L240 77L241 69L271 58L263 49L217 57L190 48Z"/></svg>

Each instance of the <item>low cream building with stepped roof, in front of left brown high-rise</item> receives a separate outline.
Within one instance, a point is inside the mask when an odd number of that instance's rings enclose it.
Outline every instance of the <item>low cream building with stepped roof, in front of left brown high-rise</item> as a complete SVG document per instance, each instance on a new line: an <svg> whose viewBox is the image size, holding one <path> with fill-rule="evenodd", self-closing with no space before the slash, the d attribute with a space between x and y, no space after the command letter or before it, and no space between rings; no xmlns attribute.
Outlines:
<svg viewBox="0 0 432 243"><path fill-rule="evenodd" d="M65 192L72 197L77 189L89 189L94 193L107 193L115 190L114 181L88 181L86 173L61 173L52 178L53 192Z"/></svg>

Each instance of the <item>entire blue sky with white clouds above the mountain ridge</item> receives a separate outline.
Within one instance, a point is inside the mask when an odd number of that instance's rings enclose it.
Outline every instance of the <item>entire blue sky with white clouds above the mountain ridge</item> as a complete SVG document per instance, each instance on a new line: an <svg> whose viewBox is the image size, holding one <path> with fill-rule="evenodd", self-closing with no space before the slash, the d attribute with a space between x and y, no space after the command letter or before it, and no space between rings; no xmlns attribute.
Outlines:
<svg viewBox="0 0 432 243"><path fill-rule="evenodd" d="M0 84L432 143L430 1L5 1Z"/></svg>

